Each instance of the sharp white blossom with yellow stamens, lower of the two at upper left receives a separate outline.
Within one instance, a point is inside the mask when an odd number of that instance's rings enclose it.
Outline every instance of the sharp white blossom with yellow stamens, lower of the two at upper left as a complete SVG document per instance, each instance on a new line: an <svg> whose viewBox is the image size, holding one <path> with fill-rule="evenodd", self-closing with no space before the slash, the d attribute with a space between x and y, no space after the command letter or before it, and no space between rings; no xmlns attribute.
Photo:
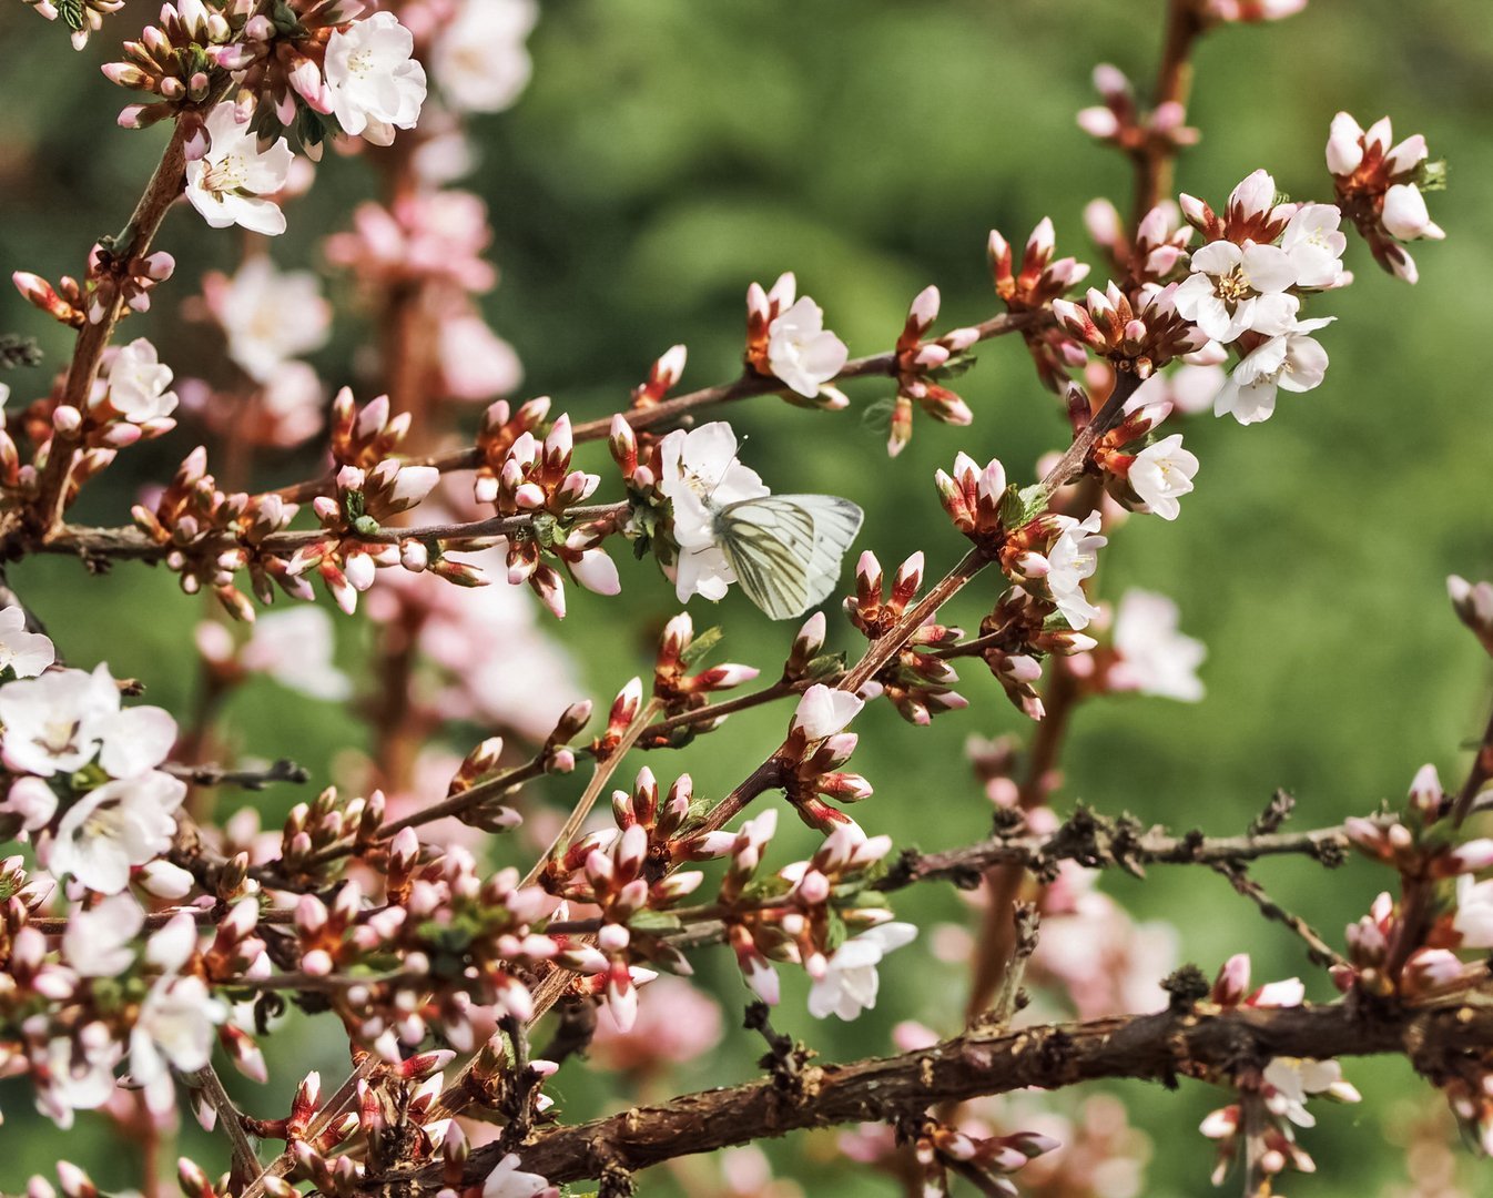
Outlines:
<svg viewBox="0 0 1493 1198"><path fill-rule="evenodd" d="M187 200L213 229L242 226L252 233L276 236L285 232L285 214L273 196L290 178L290 143L279 137L266 151L258 134L239 124L231 102L208 114L208 152L187 163Z"/></svg>

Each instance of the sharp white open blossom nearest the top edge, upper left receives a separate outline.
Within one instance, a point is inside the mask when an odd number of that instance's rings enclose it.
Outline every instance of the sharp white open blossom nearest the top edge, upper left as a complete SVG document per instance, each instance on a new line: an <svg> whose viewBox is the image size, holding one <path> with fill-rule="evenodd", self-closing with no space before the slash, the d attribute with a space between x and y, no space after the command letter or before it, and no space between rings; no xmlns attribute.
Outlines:
<svg viewBox="0 0 1493 1198"><path fill-rule="evenodd" d="M414 58L415 36L391 12L375 12L327 40L327 91L345 133L390 145L396 128L414 128L426 102L426 69Z"/></svg>

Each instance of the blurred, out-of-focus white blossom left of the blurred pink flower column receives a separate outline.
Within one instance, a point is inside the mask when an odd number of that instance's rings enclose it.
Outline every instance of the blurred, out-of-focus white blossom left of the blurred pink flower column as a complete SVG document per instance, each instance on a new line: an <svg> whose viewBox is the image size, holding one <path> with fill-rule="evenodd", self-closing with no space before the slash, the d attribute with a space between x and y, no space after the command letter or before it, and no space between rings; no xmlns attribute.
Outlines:
<svg viewBox="0 0 1493 1198"><path fill-rule="evenodd" d="M205 279L203 293L228 336L228 357L255 382L269 382L285 361L327 344L331 305L309 270L278 270L258 254L231 279Z"/></svg>

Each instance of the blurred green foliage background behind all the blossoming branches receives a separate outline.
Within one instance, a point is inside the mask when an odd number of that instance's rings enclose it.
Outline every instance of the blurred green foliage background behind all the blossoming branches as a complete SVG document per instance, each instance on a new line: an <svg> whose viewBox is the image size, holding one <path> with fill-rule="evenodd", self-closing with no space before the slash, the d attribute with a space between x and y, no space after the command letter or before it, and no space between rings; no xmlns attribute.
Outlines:
<svg viewBox="0 0 1493 1198"><path fill-rule="evenodd" d="M991 227L1020 245L1051 215L1060 252L1093 258L1082 206L1094 196L1124 205L1130 178L1118 155L1078 131L1073 114L1094 102L1088 73L1097 61L1150 78L1162 9L1162 0L546 4L530 42L530 90L511 112L475 124L481 166L470 184L491 205L493 257L503 272L487 312L523 357L526 393L551 393L576 418L603 415L679 341L690 347L685 385L730 378L744 288L784 269L797 272L800 290L824 306L851 353L864 354L890 347L908 302L929 282L942 288L944 327L994 312L984 263ZM97 64L149 10L130 3L73 54L61 28L16 3L0 9L6 272L76 272L90 242L127 215L163 134L115 128L125 97ZM1444 578L1493 574L1486 364L1471 353L1493 324L1493 288L1477 282L1493 278L1486 202L1493 22L1483 0L1314 0L1287 22L1209 36L1196 61L1190 122L1203 140L1181 161L1182 190L1218 203L1265 166L1293 197L1330 199L1321 151L1333 112L1348 109L1363 124L1387 112L1399 136L1426 133L1432 157L1450 163L1450 190L1430 197L1448 242L1415 249L1414 288L1380 273L1363 246L1350 243L1357 284L1312 308L1339 317L1323 338L1332 356L1326 384L1282 396L1263 426L1211 417L1188 426L1188 447L1203 463L1196 494L1175 524L1123 526L1103 554L1102 590L1115 598L1144 586L1176 599L1184 630L1208 644L1208 699L1085 707L1059 807L1081 799L1235 832L1284 786L1299 799L1300 825L1315 826L1397 801L1426 760L1460 780L1468 741L1487 714L1490 671L1451 615ZM346 226L370 190L357 161L322 169L312 194L290 209L290 232L272 248L278 264L315 264L320 238ZM178 281L161 288L155 311L130 321L130 335L151 336L170 361L175 339L202 336L179 324L179 300L202 269L231 270L237 242L178 212L161 243L178 257ZM39 336L48 369L66 359L66 330L9 288L0 294L0 330ZM342 308L333 345L317 357L328 382L358 378L355 350L366 335ZM16 388L12 408L28 388L45 390L40 378L6 376ZM867 384L851 396L863 409L884 391ZM761 400L730 417L751 435L746 457L769 484L855 499L867 511L864 547L888 568L923 548L938 572L961 545L938 508L932 472L963 448L979 460L999 456L1012 477L1026 478L1066 436L1014 339L982 347L960 391L975 409L973 427L920 418L912 445L890 465L881 432L857 411L808 414ZM125 523L134 488L163 477L190 436L182 430L121 459L79 517ZM605 454L590 454L600 469ZM312 456L276 460L263 481L287 481L314 465ZM106 659L115 674L143 678L155 702L187 711L196 674L185 632L200 608L164 572L125 565L87 580L78 563L45 560L12 568L12 583L70 660ZM599 698L646 668L657 627L675 611L649 563L624 562L623 583L617 600L572 593L572 615L557 629ZM947 615L973 627L993 587L970 587ZM696 624L717 617L729 629L729 659L775 669L787 629L736 596L718 612L696 611ZM833 636L854 650L842 621ZM364 635L345 629L349 669L364 645ZM920 730L878 705L858 724L854 765L876 795L855 816L869 831L935 848L972 841L988 826L963 741L1029 727L981 669L964 674L966 713ZM269 681L240 693L228 719L246 753L294 756L318 780L330 777L342 748L366 739L351 714ZM699 790L723 793L775 744L784 720L782 710L736 717L729 732L651 765L666 777L688 769ZM479 735L457 729L452 741L464 747ZM554 784L551 799L563 804L579 786L579 777ZM263 804L273 820L296 798L281 790ZM803 829L787 829L778 860L811 842ZM497 845L494 859L511 853ZM1259 877L1329 938L1390 881L1363 863L1326 874L1280 862ZM1156 869L1147 884L1118 877L1105 887L1139 917L1173 920L1185 959L1209 974L1229 953L1248 950L1259 980L1300 972L1312 998L1330 996L1299 946L1215 875ZM963 917L957 898L939 887L902 896L897 910L921 925ZM708 955L702 974L721 993L730 1031L718 1053L673 1078L682 1087L751 1077L760 1053L735 1029L744 990L729 956ZM881 1004L854 1025L809 1019L802 978L784 977L779 1028L829 1059L887 1050L899 1019L951 1031L964 987L959 969L933 960L926 937L891 959ZM340 1077L337 1040L324 1023L291 1023L270 1044L281 1065L270 1093L234 1089L251 1110L273 1113L299 1070L315 1064L328 1083ZM1403 1120L1394 1101L1415 1095L1423 1108L1439 1101L1411 1089L1420 1083L1399 1062L1351 1062L1347 1074L1366 1101L1321 1111L1320 1126L1303 1135L1321 1171L1285 1179L1293 1198L1380 1194L1403 1176L1403 1156L1383 1138L1387 1123ZM1197 1084L1118 1092L1159 1146L1147 1194L1205 1192L1211 1149L1194 1128L1224 1096ZM626 1087L573 1067L555 1084L567 1119L608 1108L621 1093ZM0 1102L6 1191L58 1155L94 1170L100 1183L131 1183L128 1158L99 1120L85 1117L79 1132L63 1137L31 1116L24 1087L6 1086ZM190 1135L188 1143L202 1147ZM800 1138L773 1152L814 1195L894 1192L835 1161L823 1141ZM1493 1179L1486 1164L1466 1168L1474 1192ZM657 1171L642 1179L643 1194L676 1192L672 1186Z"/></svg>

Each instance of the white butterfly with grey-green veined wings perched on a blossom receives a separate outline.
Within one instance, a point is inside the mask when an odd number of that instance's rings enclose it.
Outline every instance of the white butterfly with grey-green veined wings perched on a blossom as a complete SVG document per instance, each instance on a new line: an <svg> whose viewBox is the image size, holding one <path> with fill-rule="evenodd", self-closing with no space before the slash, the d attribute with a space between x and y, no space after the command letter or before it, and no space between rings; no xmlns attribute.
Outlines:
<svg viewBox="0 0 1493 1198"><path fill-rule="evenodd" d="M864 518L833 494L764 494L709 506L715 544L736 581L773 620L791 620L830 596Z"/></svg>

